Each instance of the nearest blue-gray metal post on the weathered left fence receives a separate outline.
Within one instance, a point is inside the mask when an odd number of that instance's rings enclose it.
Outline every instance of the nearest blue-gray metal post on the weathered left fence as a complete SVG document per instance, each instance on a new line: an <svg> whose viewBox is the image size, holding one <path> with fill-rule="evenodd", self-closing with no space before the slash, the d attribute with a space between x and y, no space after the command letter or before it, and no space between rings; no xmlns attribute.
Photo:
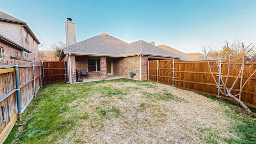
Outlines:
<svg viewBox="0 0 256 144"><path fill-rule="evenodd" d="M14 64L15 77L16 77L16 92L17 92L17 107L18 107L18 121L21 121L21 106L20 106L20 78L19 78L19 65Z"/></svg>

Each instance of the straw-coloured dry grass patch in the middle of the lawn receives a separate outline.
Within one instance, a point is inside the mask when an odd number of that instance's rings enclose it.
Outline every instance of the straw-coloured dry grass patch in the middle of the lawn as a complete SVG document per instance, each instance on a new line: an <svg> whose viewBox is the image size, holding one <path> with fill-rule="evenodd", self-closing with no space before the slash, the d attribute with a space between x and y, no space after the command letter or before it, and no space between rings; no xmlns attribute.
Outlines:
<svg viewBox="0 0 256 144"><path fill-rule="evenodd" d="M77 143L218 143L236 135L227 106L194 92L164 84L106 82L101 93L69 103L85 113L76 128L58 141Z"/></svg>

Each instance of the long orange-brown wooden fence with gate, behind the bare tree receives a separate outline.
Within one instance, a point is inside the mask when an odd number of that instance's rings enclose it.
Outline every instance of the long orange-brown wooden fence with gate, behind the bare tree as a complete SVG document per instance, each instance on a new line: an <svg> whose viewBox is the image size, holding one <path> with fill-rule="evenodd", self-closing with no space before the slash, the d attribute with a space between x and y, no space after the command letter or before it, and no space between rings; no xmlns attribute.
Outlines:
<svg viewBox="0 0 256 144"><path fill-rule="evenodd" d="M212 72L215 79L218 82L218 68L213 61L210 62ZM227 87L230 88L233 84L238 72L236 68L240 66L240 63L236 63L230 69L230 76L228 78ZM250 74L256 69L256 64L248 68L249 64L244 66L245 73L236 82L232 94L238 94L240 88L240 82L242 84L248 79ZM222 77L225 80L227 77L227 63L221 63ZM246 69L248 68L248 69ZM212 78L207 61L178 61L178 60L149 60L148 61L148 80L154 82L160 82L163 84L169 84L177 88L185 90L191 90L194 92L203 92L209 95L218 96L218 88ZM220 86L223 84L220 83ZM220 96L222 96L220 94ZM231 98L222 96L222 98L232 100ZM256 75L253 75L246 83L242 90L240 97L242 102L248 106L256 108Z"/></svg>

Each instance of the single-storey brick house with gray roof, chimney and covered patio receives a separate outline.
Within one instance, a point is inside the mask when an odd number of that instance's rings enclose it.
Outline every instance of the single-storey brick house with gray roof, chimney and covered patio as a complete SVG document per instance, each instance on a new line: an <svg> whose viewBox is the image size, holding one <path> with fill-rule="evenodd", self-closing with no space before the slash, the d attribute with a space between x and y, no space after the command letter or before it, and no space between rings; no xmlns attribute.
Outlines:
<svg viewBox="0 0 256 144"><path fill-rule="evenodd" d="M61 52L60 60L68 63L70 83L76 82L76 69L79 74L81 68L88 71L89 78L129 78L130 72L134 72L134 79L147 80L148 60L180 58L143 40L128 44L106 33L76 43L72 19L69 18L65 25L67 46Z"/></svg>

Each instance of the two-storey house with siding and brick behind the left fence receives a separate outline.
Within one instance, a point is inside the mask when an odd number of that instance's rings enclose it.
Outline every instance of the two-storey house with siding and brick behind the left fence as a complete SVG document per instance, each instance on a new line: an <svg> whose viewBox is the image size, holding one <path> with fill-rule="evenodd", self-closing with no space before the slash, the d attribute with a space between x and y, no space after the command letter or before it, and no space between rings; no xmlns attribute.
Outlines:
<svg viewBox="0 0 256 144"><path fill-rule="evenodd" d="M39 62L38 44L26 22L0 11L0 58Z"/></svg>

